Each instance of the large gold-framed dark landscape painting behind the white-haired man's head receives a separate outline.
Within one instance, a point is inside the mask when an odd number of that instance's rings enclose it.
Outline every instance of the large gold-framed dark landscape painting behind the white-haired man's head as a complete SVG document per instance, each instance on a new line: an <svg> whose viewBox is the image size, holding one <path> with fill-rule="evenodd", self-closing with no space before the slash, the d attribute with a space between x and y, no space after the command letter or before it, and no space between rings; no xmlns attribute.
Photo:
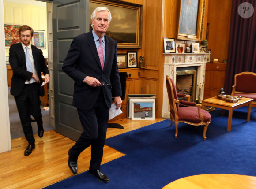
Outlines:
<svg viewBox="0 0 256 189"><path fill-rule="evenodd" d="M120 0L90 0L89 5L90 15L96 7L109 8L112 20L105 34L117 41L118 48L142 48L141 4ZM89 23L91 25L91 19Z"/></svg>

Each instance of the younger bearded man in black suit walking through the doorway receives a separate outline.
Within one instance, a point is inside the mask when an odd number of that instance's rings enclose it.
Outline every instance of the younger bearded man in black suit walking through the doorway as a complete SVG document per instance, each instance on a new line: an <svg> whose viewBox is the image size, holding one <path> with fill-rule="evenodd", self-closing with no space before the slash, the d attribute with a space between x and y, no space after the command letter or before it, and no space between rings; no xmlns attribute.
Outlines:
<svg viewBox="0 0 256 189"><path fill-rule="evenodd" d="M45 82L50 81L49 70L40 49L30 44L33 29L23 25L19 28L21 43L10 47L9 63L13 71L11 78L11 95L14 96L23 131L29 145L24 155L28 156L35 148L35 139L31 126L30 115L33 115L38 125L38 136L43 137L43 121L40 108L41 72Z"/></svg>

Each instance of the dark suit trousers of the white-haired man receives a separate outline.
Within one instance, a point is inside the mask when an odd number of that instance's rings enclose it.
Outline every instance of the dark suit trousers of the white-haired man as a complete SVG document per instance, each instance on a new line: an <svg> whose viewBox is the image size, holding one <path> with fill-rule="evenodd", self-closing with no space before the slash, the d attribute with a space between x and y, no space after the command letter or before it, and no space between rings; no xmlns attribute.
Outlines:
<svg viewBox="0 0 256 189"><path fill-rule="evenodd" d="M77 158L83 150L91 145L89 169L92 171L100 170L109 118L109 108L105 103L103 89L90 110L77 109L77 111L83 127L83 133L70 149L72 159Z"/></svg>

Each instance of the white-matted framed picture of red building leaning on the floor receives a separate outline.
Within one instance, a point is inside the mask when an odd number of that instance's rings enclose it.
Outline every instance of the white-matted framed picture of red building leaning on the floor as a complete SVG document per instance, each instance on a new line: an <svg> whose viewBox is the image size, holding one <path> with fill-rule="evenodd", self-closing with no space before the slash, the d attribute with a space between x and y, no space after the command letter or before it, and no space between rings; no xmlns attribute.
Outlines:
<svg viewBox="0 0 256 189"><path fill-rule="evenodd" d="M130 99L132 120L155 120L155 98Z"/></svg>

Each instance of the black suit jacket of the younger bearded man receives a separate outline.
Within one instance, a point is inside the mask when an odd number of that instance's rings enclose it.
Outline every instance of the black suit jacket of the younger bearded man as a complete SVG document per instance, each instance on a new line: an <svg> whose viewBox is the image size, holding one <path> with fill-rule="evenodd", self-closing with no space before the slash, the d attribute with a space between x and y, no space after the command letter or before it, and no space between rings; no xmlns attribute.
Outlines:
<svg viewBox="0 0 256 189"><path fill-rule="evenodd" d="M49 74L49 70L45 65L43 52L33 45L31 45L31 49L35 68L41 81L40 84L42 84L43 80L41 77L41 72L43 72L45 75ZM11 95L18 96L25 85L25 81L30 80L33 74L32 72L26 70L26 56L21 43L11 45L9 52L9 63L13 71L11 78Z"/></svg>

